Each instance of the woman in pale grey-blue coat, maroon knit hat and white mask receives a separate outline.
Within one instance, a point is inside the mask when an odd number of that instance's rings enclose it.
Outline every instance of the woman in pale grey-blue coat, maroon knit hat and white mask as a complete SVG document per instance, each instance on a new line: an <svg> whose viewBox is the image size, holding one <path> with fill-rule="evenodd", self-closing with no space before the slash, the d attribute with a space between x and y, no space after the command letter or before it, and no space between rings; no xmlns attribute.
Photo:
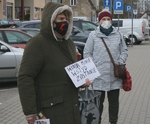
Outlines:
<svg viewBox="0 0 150 124"><path fill-rule="evenodd" d="M112 15L104 9L98 16L100 26L92 31L84 47L84 58L91 57L100 72L100 76L93 81L94 90L102 92L100 98L100 123L103 112L105 92L109 102L109 122L117 124L119 112L119 92L122 80L114 77L114 66L101 40L106 42L116 64L125 64L127 60L127 46L122 34L112 27Z"/></svg>

